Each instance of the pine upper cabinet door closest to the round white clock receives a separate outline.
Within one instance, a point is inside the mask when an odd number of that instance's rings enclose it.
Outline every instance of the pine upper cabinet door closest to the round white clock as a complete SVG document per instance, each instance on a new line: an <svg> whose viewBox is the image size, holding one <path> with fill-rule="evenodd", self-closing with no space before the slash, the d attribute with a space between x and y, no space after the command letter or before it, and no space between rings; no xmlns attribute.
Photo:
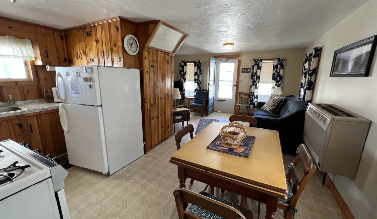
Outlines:
<svg viewBox="0 0 377 219"><path fill-rule="evenodd" d="M110 22L111 47L114 67L123 67L122 37L120 21Z"/></svg>

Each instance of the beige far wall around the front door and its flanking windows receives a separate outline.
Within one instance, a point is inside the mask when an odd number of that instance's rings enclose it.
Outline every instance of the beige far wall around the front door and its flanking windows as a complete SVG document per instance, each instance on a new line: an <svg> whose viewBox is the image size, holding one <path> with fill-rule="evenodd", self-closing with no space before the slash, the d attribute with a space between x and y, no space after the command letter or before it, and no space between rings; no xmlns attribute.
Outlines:
<svg viewBox="0 0 377 219"><path fill-rule="evenodd" d="M285 96L298 95L301 70L305 49L286 49L262 52L246 52L241 54L241 67L251 67L253 59L282 58L285 59L282 90ZM179 80L179 64L181 61L201 60L202 62L202 89L207 89L209 57L224 54L203 54L203 55L176 55L174 57L174 80ZM228 54L227 54L228 55ZM240 92L248 92L250 87L251 74L240 73Z"/></svg>

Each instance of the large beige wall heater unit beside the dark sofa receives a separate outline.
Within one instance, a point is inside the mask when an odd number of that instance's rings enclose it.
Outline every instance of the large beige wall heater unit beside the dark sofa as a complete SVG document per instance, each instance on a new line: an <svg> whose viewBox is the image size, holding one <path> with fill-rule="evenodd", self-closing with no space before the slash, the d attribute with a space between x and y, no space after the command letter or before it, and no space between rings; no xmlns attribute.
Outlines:
<svg viewBox="0 0 377 219"><path fill-rule="evenodd" d="M318 169L355 178L370 123L334 104L310 103L303 140Z"/></svg>

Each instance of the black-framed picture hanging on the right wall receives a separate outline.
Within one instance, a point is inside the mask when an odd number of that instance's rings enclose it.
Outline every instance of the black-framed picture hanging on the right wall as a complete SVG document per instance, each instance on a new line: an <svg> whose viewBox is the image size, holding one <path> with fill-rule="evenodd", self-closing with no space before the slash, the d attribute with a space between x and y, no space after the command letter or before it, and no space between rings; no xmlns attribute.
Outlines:
<svg viewBox="0 0 377 219"><path fill-rule="evenodd" d="M334 52L330 77L367 77L376 49L377 35L349 44Z"/></svg>

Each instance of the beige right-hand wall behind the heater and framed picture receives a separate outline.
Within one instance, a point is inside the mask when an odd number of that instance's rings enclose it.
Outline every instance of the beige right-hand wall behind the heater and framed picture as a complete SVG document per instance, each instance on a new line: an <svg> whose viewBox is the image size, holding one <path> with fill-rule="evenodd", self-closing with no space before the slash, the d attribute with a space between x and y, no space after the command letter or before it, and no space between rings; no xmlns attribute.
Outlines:
<svg viewBox="0 0 377 219"><path fill-rule="evenodd" d="M359 8L307 47L322 46L314 102L333 103L372 121L355 179L335 176L334 184L356 219L377 218L377 66L369 77L329 77L334 51L377 34L377 1Z"/></svg>

